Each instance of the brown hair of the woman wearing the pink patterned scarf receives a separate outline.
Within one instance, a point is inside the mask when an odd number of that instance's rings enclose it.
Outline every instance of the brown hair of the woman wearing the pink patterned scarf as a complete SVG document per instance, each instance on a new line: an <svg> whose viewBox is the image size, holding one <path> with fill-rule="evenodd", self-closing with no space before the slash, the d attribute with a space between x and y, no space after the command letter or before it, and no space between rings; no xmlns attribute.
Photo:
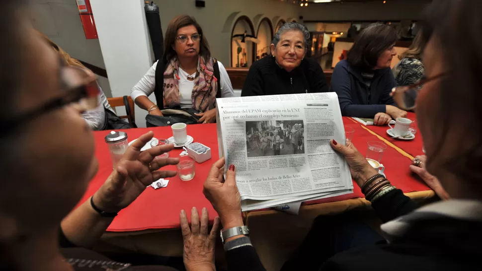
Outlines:
<svg viewBox="0 0 482 271"><path fill-rule="evenodd" d="M189 16L189 15L178 15L174 17L167 25L167 30L165 31L165 39L164 39L164 57L162 61L164 65L167 65L172 58L174 58L177 54L174 50L174 42L176 41L177 37L177 30L184 26L193 25L197 29L197 33L201 35L201 41L199 46L199 55L204 58L204 61L209 61L211 58L211 51L209 50L209 44L206 37L203 34L203 30L201 26L196 22L196 20Z"/></svg>

